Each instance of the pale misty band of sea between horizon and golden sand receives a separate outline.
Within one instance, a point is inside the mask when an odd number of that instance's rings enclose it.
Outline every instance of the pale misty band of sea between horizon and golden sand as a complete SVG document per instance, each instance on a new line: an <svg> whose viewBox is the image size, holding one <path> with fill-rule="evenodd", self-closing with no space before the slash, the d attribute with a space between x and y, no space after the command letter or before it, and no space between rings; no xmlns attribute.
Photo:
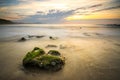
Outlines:
<svg viewBox="0 0 120 80"><path fill-rule="evenodd" d="M0 25L0 40L24 37L27 35L46 35L55 37L96 37L120 36L120 28L106 28L102 25L43 25L13 24Z"/></svg>

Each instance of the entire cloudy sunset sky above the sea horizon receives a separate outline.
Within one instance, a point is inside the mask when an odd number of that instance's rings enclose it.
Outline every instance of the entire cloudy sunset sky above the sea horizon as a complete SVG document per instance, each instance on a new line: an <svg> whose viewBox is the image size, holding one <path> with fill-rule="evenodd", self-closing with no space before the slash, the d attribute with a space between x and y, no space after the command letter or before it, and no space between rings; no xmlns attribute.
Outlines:
<svg viewBox="0 0 120 80"><path fill-rule="evenodd" d="M0 18L24 23L118 20L120 0L0 0Z"/></svg>

